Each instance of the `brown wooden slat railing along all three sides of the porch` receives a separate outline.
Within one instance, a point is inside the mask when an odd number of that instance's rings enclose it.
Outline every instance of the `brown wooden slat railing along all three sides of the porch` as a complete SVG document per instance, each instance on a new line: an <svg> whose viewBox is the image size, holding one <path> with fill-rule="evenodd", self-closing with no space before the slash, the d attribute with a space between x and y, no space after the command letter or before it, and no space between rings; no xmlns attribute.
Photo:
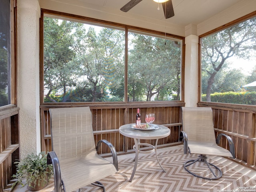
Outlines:
<svg viewBox="0 0 256 192"><path fill-rule="evenodd" d="M90 106L95 143L100 139L107 139L114 144L119 153L129 152L132 149L134 141L120 135L118 128L126 123L134 123L136 109L139 107L142 117L146 113L155 113L156 120L154 123L170 128L171 135L159 140L158 144L160 147L180 144L179 133L180 129L182 129L181 106L184 106L184 103L178 102L154 106ZM213 121L216 133L226 133L232 137L236 152L235 161L256 170L256 106L206 102L200 102L198 106L211 107L213 109ZM49 108L46 106L41 107L42 150L44 151L52 150ZM16 172L14 161L19 159L20 147L18 115L19 109L16 105L8 105L0 108L0 192L6 188L11 180L11 176ZM144 119L142 119L142 122L144 122ZM155 141L146 142L154 144ZM222 139L221 146L228 148L225 138ZM107 148L102 147L102 154L108 154L109 152Z"/></svg>

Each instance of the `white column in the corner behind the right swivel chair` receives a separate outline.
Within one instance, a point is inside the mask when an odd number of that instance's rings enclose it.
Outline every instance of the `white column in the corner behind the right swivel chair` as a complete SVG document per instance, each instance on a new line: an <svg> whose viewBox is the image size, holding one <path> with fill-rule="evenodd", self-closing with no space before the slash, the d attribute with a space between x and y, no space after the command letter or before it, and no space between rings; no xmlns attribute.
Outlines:
<svg viewBox="0 0 256 192"><path fill-rule="evenodd" d="M185 103L186 107L196 107L198 97L198 36L185 38Z"/></svg>

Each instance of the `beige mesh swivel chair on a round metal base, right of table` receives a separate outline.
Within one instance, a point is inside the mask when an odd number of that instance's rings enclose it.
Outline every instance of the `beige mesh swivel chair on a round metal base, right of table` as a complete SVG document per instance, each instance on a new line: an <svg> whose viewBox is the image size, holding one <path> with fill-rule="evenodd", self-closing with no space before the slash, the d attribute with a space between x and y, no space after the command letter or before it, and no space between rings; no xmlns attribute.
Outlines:
<svg viewBox="0 0 256 192"><path fill-rule="evenodd" d="M214 164L207 162L206 155L235 158L234 143L231 137L223 133L218 134L217 139L215 138L212 109L210 107L182 107L182 123L181 137L184 142L184 154L188 154L188 152L200 154L197 159L184 163L185 170L199 178L208 180L221 178L222 171ZM230 151L217 145L222 136L228 140ZM202 172L198 172L198 168L192 172L191 167L197 162L205 163L210 174L204 175Z"/></svg>

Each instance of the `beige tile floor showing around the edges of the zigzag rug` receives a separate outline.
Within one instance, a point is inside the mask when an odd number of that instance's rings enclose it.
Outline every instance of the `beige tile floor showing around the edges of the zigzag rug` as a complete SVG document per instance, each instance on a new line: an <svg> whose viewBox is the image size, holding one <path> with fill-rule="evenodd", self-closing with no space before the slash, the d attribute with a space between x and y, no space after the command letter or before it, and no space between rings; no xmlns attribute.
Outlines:
<svg viewBox="0 0 256 192"><path fill-rule="evenodd" d="M170 148L175 149L175 148L183 148L183 145L177 145L177 146L171 146L171 147L165 147L165 148L159 148L157 149L157 152L164 152L164 151L168 151L170 150ZM139 154L139 155L143 155L143 154ZM134 158L135 154L131 153L131 154L125 154L125 155L120 155L118 156L118 160L122 160L122 159L126 159L126 158ZM250 178L254 178L256 179L256 171L251 169L251 168L247 168L245 166L242 166L232 160L229 160L227 158L223 158L223 157L218 157L218 156L208 156L209 158L212 158L213 160L217 160L218 162L224 164L224 165L228 165L230 167L232 167L234 170L245 174L247 176L249 176ZM108 157L106 158L108 160L112 160L112 157ZM26 186L23 188L20 188L20 185L17 185L16 188L13 190L13 192L25 192L27 190ZM6 192L8 192L10 190L6 190Z"/></svg>

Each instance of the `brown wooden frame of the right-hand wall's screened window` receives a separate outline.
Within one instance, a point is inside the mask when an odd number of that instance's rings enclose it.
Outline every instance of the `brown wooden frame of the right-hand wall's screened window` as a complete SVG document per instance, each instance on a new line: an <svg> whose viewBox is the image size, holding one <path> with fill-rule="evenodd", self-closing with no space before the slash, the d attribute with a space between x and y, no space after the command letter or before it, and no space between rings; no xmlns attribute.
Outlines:
<svg viewBox="0 0 256 192"><path fill-rule="evenodd" d="M256 105L243 105L243 104L234 104L234 103L218 103L218 102L212 102L212 101L202 101L202 62L201 62L201 55L202 55L202 38L204 37L207 37L207 36L210 36L212 34L215 34L217 32L220 32L222 30L225 30L227 28L230 28L232 26L235 26L236 24L239 24L239 23L242 23L246 20L249 20L253 17L256 17L256 11L250 13L250 14L247 14L241 18L238 18L232 22L229 22L225 25L222 25L218 28L215 28L209 32L206 32L202 35L199 36L199 49L198 49L198 103L201 103L201 104L207 104L207 103L212 103L212 104L216 104L216 105L223 105L223 106L232 106L232 108L242 108L242 107L246 107L246 108L256 108Z"/></svg>

